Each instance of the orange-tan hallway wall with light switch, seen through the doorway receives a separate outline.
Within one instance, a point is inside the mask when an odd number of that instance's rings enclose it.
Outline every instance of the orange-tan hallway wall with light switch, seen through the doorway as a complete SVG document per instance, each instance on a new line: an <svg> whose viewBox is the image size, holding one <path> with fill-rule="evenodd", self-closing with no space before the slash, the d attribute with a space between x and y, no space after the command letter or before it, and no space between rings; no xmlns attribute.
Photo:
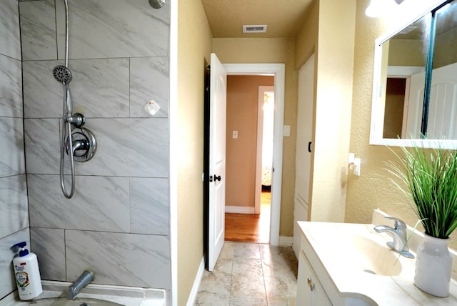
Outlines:
<svg viewBox="0 0 457 306"><path fill-rule="evenodd" d="M273 85L273 76L227 76L227 206L254 206L258 87Z"/></svg>

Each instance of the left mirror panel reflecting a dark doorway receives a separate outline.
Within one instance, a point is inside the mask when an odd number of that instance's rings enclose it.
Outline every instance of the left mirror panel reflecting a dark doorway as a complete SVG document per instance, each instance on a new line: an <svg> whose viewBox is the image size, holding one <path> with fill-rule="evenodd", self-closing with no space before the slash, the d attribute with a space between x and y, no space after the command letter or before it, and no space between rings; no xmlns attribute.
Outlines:
<svg viewBox="0 0 457 306"><path fill-rule="evenodd" d="M383 138L420 138L430 19L426 14L383 43Z"/></svg>

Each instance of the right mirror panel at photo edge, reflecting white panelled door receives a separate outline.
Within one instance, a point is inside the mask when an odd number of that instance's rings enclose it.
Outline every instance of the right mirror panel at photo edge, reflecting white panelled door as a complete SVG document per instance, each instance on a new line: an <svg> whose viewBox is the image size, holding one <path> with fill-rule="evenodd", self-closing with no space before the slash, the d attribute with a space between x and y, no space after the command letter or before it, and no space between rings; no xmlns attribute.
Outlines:
<svg viewBox="0 0 457 306"><path fill-rule="evenodd" d="M457 1L436 11L427 138L457 139Z"/></svg>

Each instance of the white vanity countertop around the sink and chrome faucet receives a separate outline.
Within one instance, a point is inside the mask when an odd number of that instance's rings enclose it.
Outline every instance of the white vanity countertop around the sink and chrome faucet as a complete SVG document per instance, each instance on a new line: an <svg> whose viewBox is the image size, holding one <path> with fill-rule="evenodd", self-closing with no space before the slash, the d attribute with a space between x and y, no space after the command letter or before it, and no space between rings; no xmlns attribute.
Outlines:
<svg viewBox="0 0 457 306"><path fill-rule="evenodd" d="M391 236L374 232L373 224L298 222L303 232L302 250L318 274L324 288L333 286L341 297L355 297L370 305L457 305L457 282L451 280L448 297L433 297L413 284L416 260L398 257L401 272L395 276L373 275L364 271L354 252L357 247L347 237L376 242L376 250L386 253ZM359 244L360 247L363 244ZM387 250L377 249L386 247ZM373 250L373 249L372 249ZM397 255L394 251L394 255ZM376 253L373 250L373 253ZM378 252L379 253L379 252ZM373 254L373 258L378 256ZM360 256L359 256L360 257ZM369 255L368 251L368 257ZM454 259L454 262L456 260ZM396 265L398 265L398 262ZM320 274L320 275L319 275ZM393 273L395 274L395 273Z"/></svg>

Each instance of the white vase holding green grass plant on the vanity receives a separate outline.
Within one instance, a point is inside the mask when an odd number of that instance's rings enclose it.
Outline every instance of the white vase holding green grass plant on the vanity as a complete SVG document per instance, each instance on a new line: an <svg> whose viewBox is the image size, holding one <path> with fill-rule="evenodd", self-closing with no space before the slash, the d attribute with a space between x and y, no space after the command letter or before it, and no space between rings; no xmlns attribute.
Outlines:
<svg viewBox="0 0 457 306"><path fill-rule="evenodd" d="M416 252L414 285L436 297L447 297L451 282L452 257L449 239L425 235Z"/></svg>

